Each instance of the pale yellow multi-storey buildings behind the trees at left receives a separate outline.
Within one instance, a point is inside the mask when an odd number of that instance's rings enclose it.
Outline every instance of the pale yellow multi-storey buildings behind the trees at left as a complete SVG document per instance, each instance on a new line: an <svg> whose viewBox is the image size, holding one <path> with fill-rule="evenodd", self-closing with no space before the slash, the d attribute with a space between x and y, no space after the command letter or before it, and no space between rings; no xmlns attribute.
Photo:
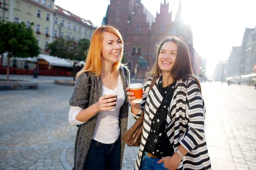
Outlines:
<svg viewBox="0 0 256 170"><path fill-rule="evenodd" d="M1 0L2 2L3 0ZM1 3L0 19L10 22L24 22L32 29L42 54L49 53L47 44L58 37L90 39L96 26L54 4L54 0L6 0Z"/></svg>

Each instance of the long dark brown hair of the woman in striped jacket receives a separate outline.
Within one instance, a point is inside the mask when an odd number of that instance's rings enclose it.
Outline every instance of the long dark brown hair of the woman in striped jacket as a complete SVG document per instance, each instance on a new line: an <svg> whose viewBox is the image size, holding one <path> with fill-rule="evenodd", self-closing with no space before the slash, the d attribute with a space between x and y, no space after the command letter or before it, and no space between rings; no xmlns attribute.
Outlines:
<svg viewBox="0 0 256 170"><path fill-rule="evenodd" d="M195 77L192 70L188 47L178 37L164 37L163 40L159 43L159 45L157 45L156 61L152 69L146 74L146 77L149 78L151 76L157 76L157 78L159 78L160 75L162 74L162 70L158 66L158 56L160 54L160 50L163 44L169 41L172 41L177 44L177 55L175 62L172 66L170 76L172 76L172 78L175 81L188 80L189 77L194 79L197 82L201 92L200 81L198 80L198 78Z"/></svg>

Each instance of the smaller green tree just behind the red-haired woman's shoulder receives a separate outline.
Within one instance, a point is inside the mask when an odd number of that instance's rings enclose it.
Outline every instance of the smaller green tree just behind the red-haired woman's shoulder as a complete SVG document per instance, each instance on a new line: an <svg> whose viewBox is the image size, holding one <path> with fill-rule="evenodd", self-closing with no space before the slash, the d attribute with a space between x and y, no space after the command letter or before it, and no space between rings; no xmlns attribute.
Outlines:
<svg viewBox="0 0 256 170"><path fill-rule="evenodd" d="M73 63L73 75L75 80L76 76L76 64L80 61L85 61L86 52L89 49L90 40L81 39L78 42L73 39L59 38L53 43L48 44L48 49L50 50L50 55L57 56L60 58L70 59L74 61Z"/></svg>

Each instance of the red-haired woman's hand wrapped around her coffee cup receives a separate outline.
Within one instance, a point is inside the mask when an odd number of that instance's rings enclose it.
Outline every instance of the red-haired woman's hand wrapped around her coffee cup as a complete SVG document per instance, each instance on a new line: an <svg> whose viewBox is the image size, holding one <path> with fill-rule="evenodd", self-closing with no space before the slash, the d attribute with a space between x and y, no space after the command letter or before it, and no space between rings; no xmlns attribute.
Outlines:
<svg viewBox="0 0 256 170"><path fill-rule="evenodd" d="M99 101L96 103L98 112L109 111L113 109L116 104L116 98L113 98L115 95L103 95L99 98Z"/></svg>

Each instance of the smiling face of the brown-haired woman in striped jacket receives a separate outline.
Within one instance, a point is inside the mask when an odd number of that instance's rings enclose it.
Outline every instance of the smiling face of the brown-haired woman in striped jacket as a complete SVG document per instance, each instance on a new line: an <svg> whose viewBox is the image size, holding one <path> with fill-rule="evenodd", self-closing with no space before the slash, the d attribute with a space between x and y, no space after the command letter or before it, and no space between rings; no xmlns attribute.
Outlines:
<svg viewBox="0 0 256 170"><path fill-rule="evenodd" d="M158 66L162 73L171 72L172 66L177 56L178 46L172 41L163 44L158 55Z"/></svg>

